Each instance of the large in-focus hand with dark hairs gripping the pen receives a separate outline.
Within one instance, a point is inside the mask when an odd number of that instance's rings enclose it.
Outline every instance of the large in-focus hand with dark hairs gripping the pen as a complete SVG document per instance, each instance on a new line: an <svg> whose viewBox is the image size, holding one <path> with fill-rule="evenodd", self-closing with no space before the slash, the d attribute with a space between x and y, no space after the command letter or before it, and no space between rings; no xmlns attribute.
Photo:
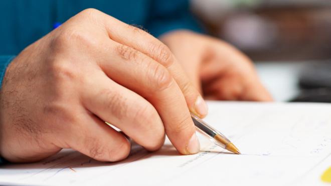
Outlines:
<svg viewBox="0 0 331 186"><path fill-rule="evenodd" d="M183 154L199 151L190 110L199 92L169 48L146 32L88 9L27 47L7 69L1 91L0 155L36 161L62 148L101 161L148 150L164 132Z"/></svg>

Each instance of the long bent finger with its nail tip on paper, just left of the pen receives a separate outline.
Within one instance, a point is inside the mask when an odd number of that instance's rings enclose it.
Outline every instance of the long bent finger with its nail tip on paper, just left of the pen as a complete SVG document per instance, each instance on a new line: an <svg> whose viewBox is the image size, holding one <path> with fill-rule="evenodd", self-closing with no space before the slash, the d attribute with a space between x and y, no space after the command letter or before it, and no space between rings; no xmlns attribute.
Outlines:
<svg viewBox="0 0 331 186"><path fill-rule="evenodd" d="M130 47L115 42L108 46L112 47L100 51L96 57L107 76L137 92L156 108L165 132L179 152L198 152L195 126L183 92L168 69Z"/></svg>

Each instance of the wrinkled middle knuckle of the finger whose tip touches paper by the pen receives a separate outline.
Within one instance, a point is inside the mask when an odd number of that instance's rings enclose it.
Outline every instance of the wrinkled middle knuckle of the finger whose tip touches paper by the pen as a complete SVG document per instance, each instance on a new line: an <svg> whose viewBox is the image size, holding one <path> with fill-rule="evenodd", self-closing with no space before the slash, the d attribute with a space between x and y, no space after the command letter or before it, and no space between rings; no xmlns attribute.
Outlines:
<svg viewBox="0 0 331 186"><path fill-rule="evenodd" d="M166 68L159 64L153 64L153 66L150 65L149 69L152 71L150 79L155 89L154 91L162 91L171 86L174 80Z"/></svg>

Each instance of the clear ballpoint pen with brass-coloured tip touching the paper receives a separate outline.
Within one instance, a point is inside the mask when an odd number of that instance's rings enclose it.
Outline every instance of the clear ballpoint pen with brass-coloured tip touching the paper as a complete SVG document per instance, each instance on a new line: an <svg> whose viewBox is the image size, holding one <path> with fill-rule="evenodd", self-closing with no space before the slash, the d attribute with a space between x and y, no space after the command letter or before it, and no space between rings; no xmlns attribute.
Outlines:
<svg viewBox="0 0 331 186"><path fill-rule="evenodd" d="M205 121L200 119L195 114L191 113L191 117L193 119L194 124L196 125L199 132L209 137L214 141L214 143L224 149L227 149L233 153L241 154L238 148L221 132L217 131L210 125L208 125Z"/></svg>

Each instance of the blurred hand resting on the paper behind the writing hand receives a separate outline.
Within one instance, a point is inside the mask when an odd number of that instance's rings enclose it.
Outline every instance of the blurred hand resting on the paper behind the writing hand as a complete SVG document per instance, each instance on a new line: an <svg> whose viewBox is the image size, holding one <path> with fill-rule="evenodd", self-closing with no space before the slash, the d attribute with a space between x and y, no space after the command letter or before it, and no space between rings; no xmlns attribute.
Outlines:
<svg viewBox="0 0 331 186"><path fill-rule="evenodd" d="M272 101L252 62L212 37L175 31L161 37L206 99Z"/></svg>

